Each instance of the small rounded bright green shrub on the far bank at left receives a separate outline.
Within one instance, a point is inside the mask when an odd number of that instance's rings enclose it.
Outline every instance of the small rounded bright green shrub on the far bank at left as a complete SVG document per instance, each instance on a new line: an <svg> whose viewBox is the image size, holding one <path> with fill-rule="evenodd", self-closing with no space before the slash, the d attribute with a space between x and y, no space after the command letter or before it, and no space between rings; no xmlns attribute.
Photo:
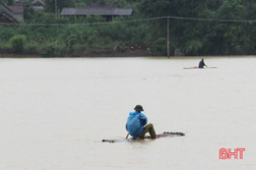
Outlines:
<svg viewBox="0 0 256 170"><path fill-rule="evenodd" d="M23 34L14 35L13 37L11 37L10 41L11 41L11 47L15 52L24 51L24 47L27 42L25 35Z"/></svg>

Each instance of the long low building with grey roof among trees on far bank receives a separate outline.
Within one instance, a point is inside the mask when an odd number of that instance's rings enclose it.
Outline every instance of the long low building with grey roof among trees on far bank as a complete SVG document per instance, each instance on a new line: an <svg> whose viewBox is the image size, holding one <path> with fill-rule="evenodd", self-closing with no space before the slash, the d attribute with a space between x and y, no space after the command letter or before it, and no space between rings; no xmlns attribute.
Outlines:
<svg viewBox="0 0 256 170"><path fill-rule="evenodd" d="M88 4L85 8L63 8L61 16L102 16L106 21L111 21L117 16L131 16L133 9L118 8L117 4Z"/></svg>

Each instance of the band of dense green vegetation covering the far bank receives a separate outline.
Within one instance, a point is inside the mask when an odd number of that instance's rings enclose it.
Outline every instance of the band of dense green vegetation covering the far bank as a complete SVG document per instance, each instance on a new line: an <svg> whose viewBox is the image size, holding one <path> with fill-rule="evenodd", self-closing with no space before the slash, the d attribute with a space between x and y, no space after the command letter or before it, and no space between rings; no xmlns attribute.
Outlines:
<svg viewBox="0 0 256 170"><path fill-rule="evenodd" d="M8 3L7 0L1 1ZM185 55L256 54L256 1L253 0L107 0L104 2L118 3L120 8L134 10L132 16L113 18L107 24L100 16L77 17L76 20L74 17L59 16L63 7L83 7L85 1L57 0L56 9L54 2L46 1L44 12L33 11L27 4L25 25L1 26L0 51L11 52L14 49L16 52L47 57L100 55L130 50L166 55L167 26L163 16L175 16L211 20L170 18L172 49L178 48ZM156 17L162 18L140 21ZM98 25L92 25L96 23ZM26 36L27 42L23 42L24 48L20 49L10 39L21 34Z"/></svg>

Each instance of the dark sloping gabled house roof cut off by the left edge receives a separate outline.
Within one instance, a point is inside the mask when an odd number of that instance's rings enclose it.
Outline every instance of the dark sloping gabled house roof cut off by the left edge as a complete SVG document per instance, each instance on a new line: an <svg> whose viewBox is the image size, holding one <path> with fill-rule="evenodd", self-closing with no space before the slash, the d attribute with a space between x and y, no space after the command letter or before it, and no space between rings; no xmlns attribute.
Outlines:
<svg viewBox="0 0 256 170"><path fill-rule="evenodd" d="M0 3L0 25L19 24L20 18L7 6Z"/></svg>

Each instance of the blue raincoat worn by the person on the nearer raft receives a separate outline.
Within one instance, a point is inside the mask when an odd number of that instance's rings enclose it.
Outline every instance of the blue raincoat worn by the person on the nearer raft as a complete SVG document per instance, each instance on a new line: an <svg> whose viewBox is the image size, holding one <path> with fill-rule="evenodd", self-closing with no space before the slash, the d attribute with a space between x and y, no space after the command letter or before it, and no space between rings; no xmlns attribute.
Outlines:
<svg viewBox="0 0 256 170"><path fill-rule="evenodd" d="M143 131L143 127L147 123L148 119L143 113L138 111L130 112L126 123L126 130L135 138Z"/></svg>

